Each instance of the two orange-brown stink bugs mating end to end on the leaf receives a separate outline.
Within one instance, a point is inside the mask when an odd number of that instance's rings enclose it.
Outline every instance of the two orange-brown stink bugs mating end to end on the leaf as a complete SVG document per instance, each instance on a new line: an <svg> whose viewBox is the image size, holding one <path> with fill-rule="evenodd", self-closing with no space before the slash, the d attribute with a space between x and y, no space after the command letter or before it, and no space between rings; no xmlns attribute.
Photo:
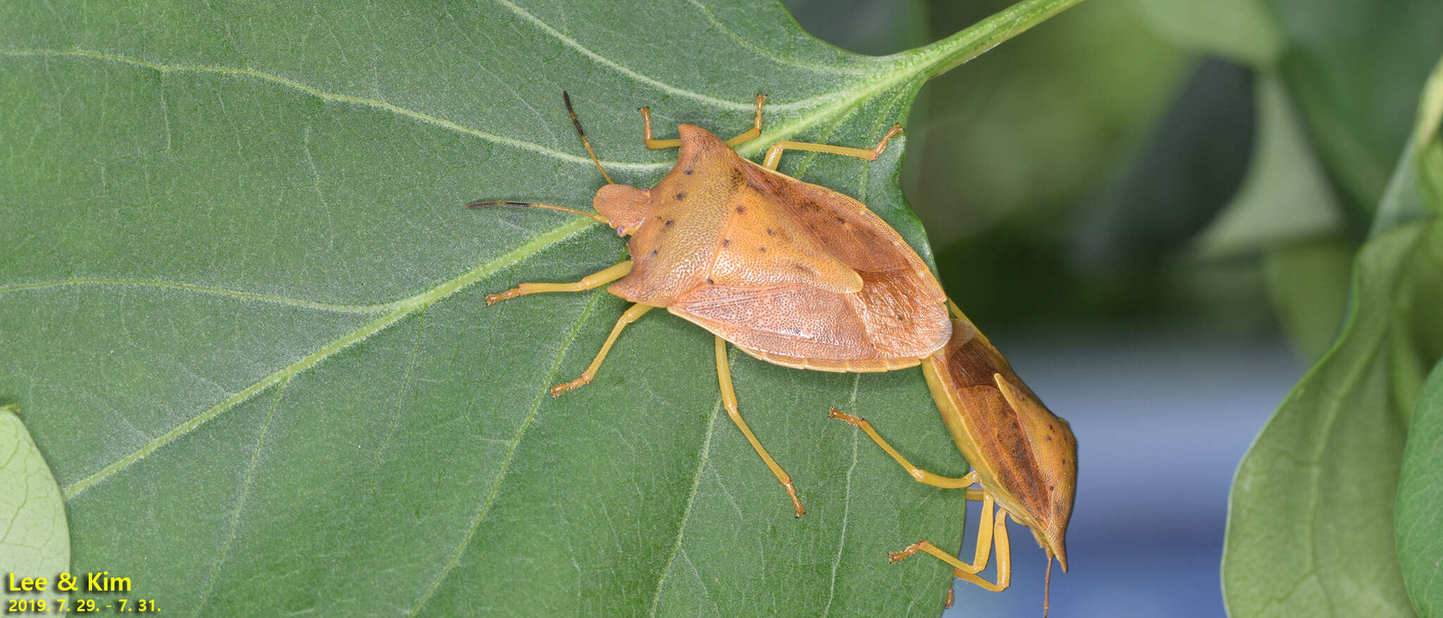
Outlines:
<svg viewBox="0 0 1443 618"><path fill-rule="evenodd" d="M967 488L968 500L983 503L983 520L971 563L925 540L892 553L892 560L931 553L952 565L960 579L988 591L1006 589L1012 578L1010 516L1027 526L1048 553L1049 579L1052 557L1066 570L1063 536L1076 488L1076 441L1066 421L1052 415L1017 379L896 230L856 199L776 171L785 150L874 160L902 127L893 125L873 148L779 141L756 164L732 148L762 134L765 97L756 98L752 128L726 141L687 124L678 128L680 140L655 140L651 115L642 108L646 147L680 147L680 153L677 166L657 186L636 189L612 183L582 131L570 97L563 92L563 99L587 154L608 182L592 200L597 213L521 202L469 205L566 210L631 236L632 259L582 281L521 284L486 297L491 304L610 284L609 292L633 303L586 372L551 388L551 395L592 382L622 328L665 307L716 336L726 411L786 488L801 517L791 477L742 421L726 344L769 363L823 372L890 372L921 364L971 473L948 478L919 470L867 421L835 408L830 416L860 426L913 480ZM970 488L974 484L980 488ZM977 575L987 568L993 547L996 582Z"/></svg>

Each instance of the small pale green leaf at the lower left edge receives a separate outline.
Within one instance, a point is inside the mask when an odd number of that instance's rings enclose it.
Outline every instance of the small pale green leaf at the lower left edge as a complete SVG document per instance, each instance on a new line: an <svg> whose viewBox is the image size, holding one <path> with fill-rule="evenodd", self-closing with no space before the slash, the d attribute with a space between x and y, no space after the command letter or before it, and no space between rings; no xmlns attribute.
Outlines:
<svg viewBox="0 0 1443 618"><path fill-rule="evenodd" d="M65 503L45 457L30 439L19 408L0 406L0 576L6 578L4 606L10 599L52 601L58 575L71 569L71 533ZM10 575L45 578L45 592L10 592Z"/></svg>

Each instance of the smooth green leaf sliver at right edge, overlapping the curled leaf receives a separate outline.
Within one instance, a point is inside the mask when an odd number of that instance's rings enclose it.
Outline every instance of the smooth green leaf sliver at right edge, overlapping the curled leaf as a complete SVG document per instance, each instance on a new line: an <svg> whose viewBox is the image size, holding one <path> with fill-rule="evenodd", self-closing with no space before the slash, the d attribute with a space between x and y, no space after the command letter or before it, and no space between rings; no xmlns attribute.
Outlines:
<svg viewBox="0 0 1443 618"><path fill-rule="evenodd" d="M1413 411L1398 483L1398 560L1420 615L1443 612L1443 363L1433 367Z"/></svg>

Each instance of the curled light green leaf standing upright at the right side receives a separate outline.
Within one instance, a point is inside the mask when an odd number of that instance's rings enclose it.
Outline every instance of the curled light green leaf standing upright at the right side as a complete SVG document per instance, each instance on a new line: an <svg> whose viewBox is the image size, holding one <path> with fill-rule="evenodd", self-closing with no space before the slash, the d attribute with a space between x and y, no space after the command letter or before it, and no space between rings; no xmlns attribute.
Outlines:
<svg viewBox="0 0 1443 618"><path fill-rule="evenodd" d="M1443 203L1436 92L1354 262L1342 334L1268 421L1238 467L1222 583L1231 615L1413 615L1394 547L1408 419L1443 356ZM1443 534L1443 519L1413 520ZM1404 547L1407 550L1408 547Z"/></svg>

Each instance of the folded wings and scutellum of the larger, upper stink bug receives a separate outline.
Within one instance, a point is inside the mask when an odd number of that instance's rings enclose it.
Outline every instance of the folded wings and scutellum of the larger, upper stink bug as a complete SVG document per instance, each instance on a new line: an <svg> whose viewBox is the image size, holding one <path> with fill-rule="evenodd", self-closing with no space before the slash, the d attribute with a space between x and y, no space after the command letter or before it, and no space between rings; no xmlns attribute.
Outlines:
<svg viewBox="0 0 1443 618"><path fill-rule="evenodd" d="M947 343L947 297L886 222L834 190L750 161L740 170L742 212L732 215L711 281L678 297L674 314L753 356L805 369L899 369Z"/></svg>

